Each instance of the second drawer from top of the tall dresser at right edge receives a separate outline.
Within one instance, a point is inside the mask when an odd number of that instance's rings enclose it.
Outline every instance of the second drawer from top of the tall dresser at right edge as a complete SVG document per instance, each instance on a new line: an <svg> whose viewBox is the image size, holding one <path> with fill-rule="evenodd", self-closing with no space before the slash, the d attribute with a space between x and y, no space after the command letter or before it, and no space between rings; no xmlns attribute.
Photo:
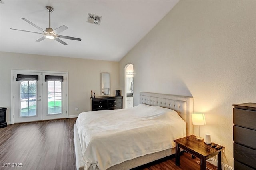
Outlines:
<svg viewBox="0 0 256 170"><path fill-rule="evenodd" d="M256 149L256 130L234 126L234 142Z"/></svg>

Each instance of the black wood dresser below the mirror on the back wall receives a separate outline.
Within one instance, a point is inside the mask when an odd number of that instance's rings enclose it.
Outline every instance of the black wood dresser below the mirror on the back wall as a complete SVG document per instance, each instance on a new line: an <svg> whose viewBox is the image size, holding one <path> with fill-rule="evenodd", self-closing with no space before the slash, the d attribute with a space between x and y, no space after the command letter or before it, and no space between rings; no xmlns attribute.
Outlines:
<svg viewBox="0 0 256 170"><path fill-rule="evenodd" d="M123 96L91 97L91 111L123 108Z"/></svg>

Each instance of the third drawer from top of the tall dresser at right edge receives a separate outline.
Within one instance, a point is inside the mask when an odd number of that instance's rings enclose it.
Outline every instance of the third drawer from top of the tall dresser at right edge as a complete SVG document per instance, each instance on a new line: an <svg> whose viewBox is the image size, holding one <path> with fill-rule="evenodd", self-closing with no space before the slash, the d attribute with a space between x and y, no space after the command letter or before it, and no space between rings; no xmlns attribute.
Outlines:
<svg viewBox="0 0 256 170"><path fill-rule="evenodd" d="M234 143L234 159L256 168L256 150Z"/></svg>

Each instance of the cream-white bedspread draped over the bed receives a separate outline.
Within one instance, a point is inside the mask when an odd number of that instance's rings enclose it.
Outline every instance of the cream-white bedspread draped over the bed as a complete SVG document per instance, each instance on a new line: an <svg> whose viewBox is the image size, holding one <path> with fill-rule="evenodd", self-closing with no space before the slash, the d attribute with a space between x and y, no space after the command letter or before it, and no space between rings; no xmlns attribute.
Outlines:
<svg viewBox="0 0 256 170"><path fill-rule="evenodd" d="M76 120L85 170L106 170L126 160L174 148L186 123L174 110L140 104L83 112Z"/></svg>

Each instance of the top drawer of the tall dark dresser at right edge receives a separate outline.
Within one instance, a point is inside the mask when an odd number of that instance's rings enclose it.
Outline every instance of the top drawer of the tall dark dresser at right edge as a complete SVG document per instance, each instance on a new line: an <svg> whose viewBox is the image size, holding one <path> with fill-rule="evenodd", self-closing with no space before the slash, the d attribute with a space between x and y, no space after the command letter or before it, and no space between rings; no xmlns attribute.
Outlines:
<svg viewBox="0 0 256 170"><path fill-rule="evenodd" d="M233 123L256 130L256 112L252 110L233 109Z"/></svg>

